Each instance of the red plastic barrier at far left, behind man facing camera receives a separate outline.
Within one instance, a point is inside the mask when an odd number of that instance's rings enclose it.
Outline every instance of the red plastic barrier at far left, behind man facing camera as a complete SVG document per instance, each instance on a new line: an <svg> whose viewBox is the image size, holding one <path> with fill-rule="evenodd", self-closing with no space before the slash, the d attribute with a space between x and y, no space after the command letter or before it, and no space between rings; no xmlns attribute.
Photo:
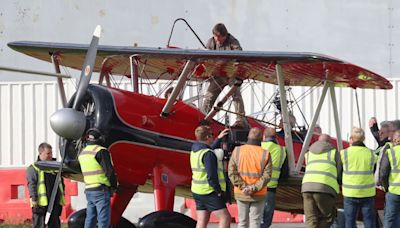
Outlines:
<svg viewBox="0 0 400 228"><path fill-rule="evenodd" d="M19 224L31 221L26 169L0 169L0 180L0 222ZM73 212L71 196L78 195L76 182L65 179L64 183L66 204L61 214L62 222L66 222Z"/></svg>

